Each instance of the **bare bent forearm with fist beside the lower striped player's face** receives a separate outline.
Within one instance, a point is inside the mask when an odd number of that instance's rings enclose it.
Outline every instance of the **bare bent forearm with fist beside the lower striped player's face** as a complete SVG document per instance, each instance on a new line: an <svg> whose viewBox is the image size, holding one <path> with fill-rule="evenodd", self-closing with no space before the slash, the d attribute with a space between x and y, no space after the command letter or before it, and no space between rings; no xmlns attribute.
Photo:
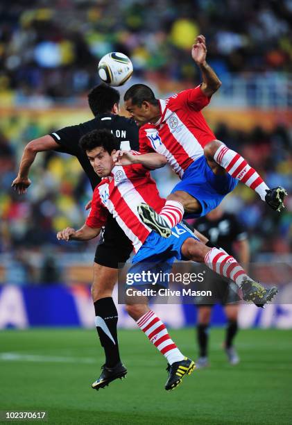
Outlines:
<svg viewBox="0 0 292 425"><path fill-rule="evenodd" d="M148 169L161 168L167 163L165 156L160 153L145 153L144 155L139 155L137 152L117 151L114 153L113 158L116 165L140 164Z"/></svg>

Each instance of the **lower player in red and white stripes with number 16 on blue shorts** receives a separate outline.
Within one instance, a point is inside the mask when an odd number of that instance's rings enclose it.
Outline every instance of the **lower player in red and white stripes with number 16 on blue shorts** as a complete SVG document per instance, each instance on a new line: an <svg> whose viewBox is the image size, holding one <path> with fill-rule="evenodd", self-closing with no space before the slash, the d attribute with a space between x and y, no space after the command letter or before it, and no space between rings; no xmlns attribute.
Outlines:
<svg viewBox="0 0 292 425"><path fill-rule="evenodd" d="M171 267L175 258L189 259L206 263L214 272L231 278L243 290L243 299L246 301L254 301L262 306L277 293L276 288L265 290L253 282L232 256L217 248L206 247L182 224L178 224L177 233L173 232L170 238L165 239L141 222L137 212L139 203L149 203L156 211L160 211L164 206L165 200L160 198L149 172L150 169L165 165L164 156L158 153L140 155L135 151L118 151L119 142L106 130L94 130L83 136L80 146L86 152L96 174L103 179L94 190L92 210L86 223L78 231L65 228L58 232L59 240L95 238L105 224L108 214L112 213L119 226L132 240L136 251L131 269L147 261L155 265L155 258L158 263L165 262L167 267ZM172 390L186 374L193 372L194 362L184 357L176 347L160 318L149 310L148 303L131 304L127 306L127 310L168 361L169 379L165 388ZM110 333L108 336L110 338Z"/></svg>

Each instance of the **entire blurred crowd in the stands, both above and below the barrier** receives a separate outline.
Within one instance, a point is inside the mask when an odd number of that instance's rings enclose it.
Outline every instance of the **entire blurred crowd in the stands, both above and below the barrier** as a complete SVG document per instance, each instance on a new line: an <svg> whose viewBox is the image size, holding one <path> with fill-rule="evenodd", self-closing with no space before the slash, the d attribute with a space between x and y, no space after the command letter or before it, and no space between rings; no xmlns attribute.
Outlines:
<svg viewBox="0 0 292 425"><path fill-rule="evenodd" d="M136 81L148 81L155 92L192 87L200 82L200 73L190 49L200 33L207 39L208 62L223 81L256 74L288 76L291 22L292 0L2 0L0 116L6 108L6 118L0 124L0 283L58 281L59 253L75 258L88 252L92 261L96 246L96 241L67 244L55 238L60 228L84 222L84 207L92 196L75 158L39 154L28 193L19 196L10 188L25 144L59 128L33 115L24 122L17 107L46 108L59 101L78 106L78 99L85 105L89 88L98 83L98 60L109 51L130 56ZM270 187L283 185L292 192L291 127L266 131L259 125L239 131L222 123L214 130ZM166 197L176 176L165 167L155 178ZM291 252L291 197L278 214L239 183L224 208L246 226L253 259L259 253Z"/></svg>

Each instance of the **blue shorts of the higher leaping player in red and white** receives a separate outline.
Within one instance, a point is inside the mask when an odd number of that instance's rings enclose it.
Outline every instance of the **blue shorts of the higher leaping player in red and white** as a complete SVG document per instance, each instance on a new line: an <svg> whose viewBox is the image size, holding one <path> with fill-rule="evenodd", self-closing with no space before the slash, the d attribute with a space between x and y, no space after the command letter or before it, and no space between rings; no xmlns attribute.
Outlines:
<svg viewBox="0 0 292 425"><path fill-rule="evenodd" d="M196 198L202 206L202 212L184 217L201 217L214 210L223 198L232 192L237 183L238 181L230 174L216 176L203 155L186 169L182 181L173 188L171 193L182 190Z"/></svg>

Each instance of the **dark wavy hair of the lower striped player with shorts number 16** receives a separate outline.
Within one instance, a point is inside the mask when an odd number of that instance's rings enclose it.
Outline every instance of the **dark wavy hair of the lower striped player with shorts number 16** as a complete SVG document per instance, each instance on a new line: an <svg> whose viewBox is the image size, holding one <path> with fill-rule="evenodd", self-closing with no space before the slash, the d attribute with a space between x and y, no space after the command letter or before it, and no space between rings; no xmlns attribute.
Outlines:
<svg viewBox="0 0 292 425"><path fill-rule="evenodd" d="M93 130L80 138L79 146L84 153L92 151L96 147L103 147L111 154L114 149L119 149L119 140L110 133L110 130Z"/></svg>

